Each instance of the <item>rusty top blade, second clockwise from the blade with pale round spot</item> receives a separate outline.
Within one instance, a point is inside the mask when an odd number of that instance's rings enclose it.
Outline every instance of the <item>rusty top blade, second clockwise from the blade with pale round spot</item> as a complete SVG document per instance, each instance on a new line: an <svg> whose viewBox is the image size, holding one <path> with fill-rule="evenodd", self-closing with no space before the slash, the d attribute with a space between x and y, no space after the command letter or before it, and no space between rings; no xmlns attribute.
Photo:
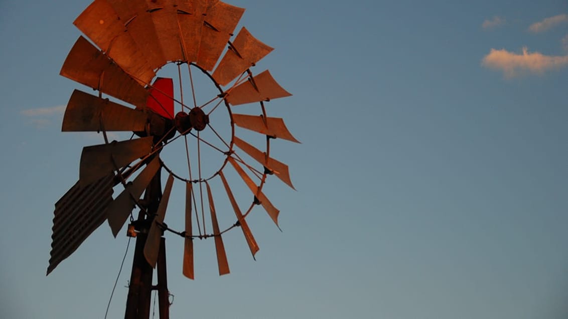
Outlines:
<svg viewBox="0 0 568 319"><path fill-rule="evenodd" d="M146 1L166 61L183 61L184 59L179 37L176 2L174 0Z"/></svg>

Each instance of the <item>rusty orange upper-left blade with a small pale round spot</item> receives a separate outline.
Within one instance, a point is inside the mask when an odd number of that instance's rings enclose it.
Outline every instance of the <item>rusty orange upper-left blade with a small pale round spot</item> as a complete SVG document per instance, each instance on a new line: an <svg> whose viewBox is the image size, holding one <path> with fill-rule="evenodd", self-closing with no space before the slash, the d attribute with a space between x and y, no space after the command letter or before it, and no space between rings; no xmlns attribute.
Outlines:
<svg viewBox="0 0 568 319"><path fill-rule="evenodd" d="M148 63L143 50L124 32L124 22L106 0L95 0L73 24L143 86L156 75L154 69L158 66Z"/></svg>

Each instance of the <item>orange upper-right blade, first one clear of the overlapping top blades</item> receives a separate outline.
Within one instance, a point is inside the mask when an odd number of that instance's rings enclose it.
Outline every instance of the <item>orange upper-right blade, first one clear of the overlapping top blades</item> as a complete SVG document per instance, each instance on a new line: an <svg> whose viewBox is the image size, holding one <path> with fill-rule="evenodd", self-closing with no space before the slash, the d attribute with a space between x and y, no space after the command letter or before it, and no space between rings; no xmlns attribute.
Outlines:
<svg viewBox="0 0 568 319"><path fill-rule="evenodd" d="M274 48L258 41L246 28L242 28L233 41L232 49L225 53L215 69L213 78L225 86L272 50Z"/></svg>

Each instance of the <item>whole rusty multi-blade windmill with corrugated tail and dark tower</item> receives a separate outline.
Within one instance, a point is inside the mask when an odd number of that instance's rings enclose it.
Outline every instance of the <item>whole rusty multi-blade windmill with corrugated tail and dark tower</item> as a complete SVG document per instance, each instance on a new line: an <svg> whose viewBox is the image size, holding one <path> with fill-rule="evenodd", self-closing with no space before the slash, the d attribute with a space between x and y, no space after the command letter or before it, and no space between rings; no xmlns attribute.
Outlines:
<svg viewBox="0 0 568 319"><path fill-rule="evenodd" d="M233 35L243 13L243 8L215 0L95 0L74 21L86 37L73 45L61 75L98 95L75 90L62 131L102 133L105 143L83 148L79 180L55 204L47 274L103 223L115 237L127 224L136 248L126 318L148 318L152 290L158 290L160 317L168 317L165 232L184 241L185 277L194 279L196 238L214 240L219 274L228 274L223 234L240 228L254 257L259 248L247 224L249 213L262 206L278 226L279 211L262 192L268 176L294 188L287 165L270 156L270 144L273 139L298 141L282 118L269 117L265 107L290 93L268 70L253 73L253 66L273 48L244 27ZM177 67L179 95L174 95L174 79L157 76L166 65ZM184 100L182 69L189 71L193 101L187 95ZM204 103L195 99L196 71L218 91ZM243 113L239 108L244 104L260 109ZM229 118L229 138L215 129L225 124L215 121L219 112ZM114 131L132 132L132 137L109 141ZM247 131L264 136L264 151L239 137ZM170 147L186 157L186 172L175 171L161 158ZM202 172L207 160L201 156L203 148L223 158L208 174ZM228 171L250 190L249 206L237 200ZM168 177L162 189L164 172ZM218 222L214 181L222 185L219 192L234 214L235 222L225 228ZM179 228L165 218L174 184L185 189L185 224ZM116 188L120 193L113 198ZM158 284L152 286L156 266Z"/></svg>

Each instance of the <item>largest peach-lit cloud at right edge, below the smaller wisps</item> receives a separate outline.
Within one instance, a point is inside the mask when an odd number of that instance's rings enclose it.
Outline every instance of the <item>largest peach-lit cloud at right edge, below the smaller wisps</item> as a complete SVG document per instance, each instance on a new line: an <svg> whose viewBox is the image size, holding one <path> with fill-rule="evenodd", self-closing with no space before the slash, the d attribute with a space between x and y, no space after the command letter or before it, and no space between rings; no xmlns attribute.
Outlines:
<svg viewBox="0 0 568 319"><path fill-rule="evenodd" d="M483 57L482 65L503 71L506 78L513 78L525 73L542 74L545 71L559 70L568 66L568 56L545 56L538 52L528 52L527 48L523 48L521 54L505 49L491 49Z"/></svg>

